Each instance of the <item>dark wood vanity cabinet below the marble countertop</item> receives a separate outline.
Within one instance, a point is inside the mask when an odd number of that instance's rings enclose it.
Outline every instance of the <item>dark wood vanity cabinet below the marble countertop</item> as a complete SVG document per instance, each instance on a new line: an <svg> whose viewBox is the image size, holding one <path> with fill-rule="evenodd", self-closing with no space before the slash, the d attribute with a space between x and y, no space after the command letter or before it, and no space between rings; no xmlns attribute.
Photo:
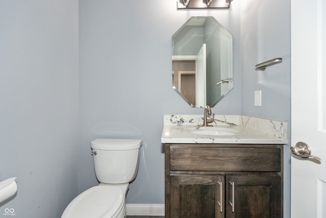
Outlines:
<svg viewBox="0 0 326 218"><path fill-rule="evenodd" d="M166 217L283 217L275 144L166 144Z"/></svg>

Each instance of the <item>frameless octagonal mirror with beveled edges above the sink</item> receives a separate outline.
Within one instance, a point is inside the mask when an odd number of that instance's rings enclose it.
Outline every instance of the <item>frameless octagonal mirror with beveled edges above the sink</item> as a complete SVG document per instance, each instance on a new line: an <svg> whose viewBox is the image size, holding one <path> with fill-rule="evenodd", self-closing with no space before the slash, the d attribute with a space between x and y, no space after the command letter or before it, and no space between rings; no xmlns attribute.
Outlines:
<svg viewBox="0 0 326 218"><path fill-rule="evenodd" d="M172 88L191 107L213 107L232 89L232 44L213 17L191 17L172 36Z"/></svg>

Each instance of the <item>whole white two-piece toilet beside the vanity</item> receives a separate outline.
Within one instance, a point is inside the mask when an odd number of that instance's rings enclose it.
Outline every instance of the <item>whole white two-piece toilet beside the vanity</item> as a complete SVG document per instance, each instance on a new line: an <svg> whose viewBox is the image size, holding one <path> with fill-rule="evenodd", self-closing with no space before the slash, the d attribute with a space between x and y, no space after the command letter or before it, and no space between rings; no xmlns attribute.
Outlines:
<svg viewBox="0 0 326 218"><path fill-rule="evenodd" d="M140 139L95 139L91 142L98 186L80 193L61 218L123 218L126 192L139 167Z"/></svg>

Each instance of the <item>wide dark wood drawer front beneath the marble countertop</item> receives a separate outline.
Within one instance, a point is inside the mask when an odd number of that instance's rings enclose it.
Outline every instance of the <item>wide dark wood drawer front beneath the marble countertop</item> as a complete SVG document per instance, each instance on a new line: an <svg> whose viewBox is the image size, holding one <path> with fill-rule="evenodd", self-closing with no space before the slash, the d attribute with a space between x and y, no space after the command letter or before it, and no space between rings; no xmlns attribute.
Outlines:
<svg viewBox="0 0 326 218"><path fill-rule="evenodd" d="M170 147L170 171L281 172L280 148Z"/></svg>

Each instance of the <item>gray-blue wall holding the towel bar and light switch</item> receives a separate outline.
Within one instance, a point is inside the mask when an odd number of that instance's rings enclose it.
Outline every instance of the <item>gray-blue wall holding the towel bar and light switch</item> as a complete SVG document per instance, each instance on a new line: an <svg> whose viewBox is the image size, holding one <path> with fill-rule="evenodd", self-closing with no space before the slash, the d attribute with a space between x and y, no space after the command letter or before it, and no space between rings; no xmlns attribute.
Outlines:
<svg viewBox="0 0 326 218"><path fill-rule="evenodd" d="M256 71L255 65L273 58L281 64ZM242 114L287 120L290 125L290 1L241 2ZM261 90L262 105L254 106ZM290 133L290 130L289 130ZM290 217L290 149L284 147L284 217Z"/></svg>

